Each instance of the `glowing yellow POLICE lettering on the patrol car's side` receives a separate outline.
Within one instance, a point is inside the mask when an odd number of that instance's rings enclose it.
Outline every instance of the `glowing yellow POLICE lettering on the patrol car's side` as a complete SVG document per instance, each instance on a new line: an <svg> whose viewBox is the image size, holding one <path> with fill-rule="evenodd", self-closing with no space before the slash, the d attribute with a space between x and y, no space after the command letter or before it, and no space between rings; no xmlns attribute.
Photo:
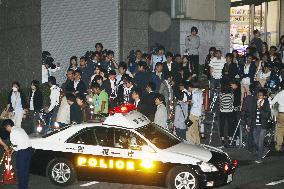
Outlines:
<svg viewBox="0 0 284 189"><path fill-rule="evenodd" d="M119 170L134 170L133 161L124 161L124 160L106 160L104 158L86 158L78 157L77 159L78 166L89 166L89 167L99 167L104 169L119 169Z"/></svg>

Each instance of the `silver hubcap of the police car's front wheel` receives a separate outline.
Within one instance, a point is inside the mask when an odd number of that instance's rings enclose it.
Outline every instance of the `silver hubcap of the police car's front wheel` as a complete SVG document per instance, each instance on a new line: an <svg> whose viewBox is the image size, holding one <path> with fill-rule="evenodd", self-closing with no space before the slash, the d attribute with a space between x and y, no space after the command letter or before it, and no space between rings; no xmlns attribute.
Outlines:
<svg viewBox="0 0 284 189"><path fill-rule="evenodd" d="M181 172L175 178L175 187L177 189L194 189L195 178L189 172Z"/></svg>

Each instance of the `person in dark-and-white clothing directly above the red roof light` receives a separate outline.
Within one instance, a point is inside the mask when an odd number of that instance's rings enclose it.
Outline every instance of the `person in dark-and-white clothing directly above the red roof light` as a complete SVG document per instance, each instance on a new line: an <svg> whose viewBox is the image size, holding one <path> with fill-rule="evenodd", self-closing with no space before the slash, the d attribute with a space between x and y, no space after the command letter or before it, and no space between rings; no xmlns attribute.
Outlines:
<svg viewBox="0 0 284 189"><path fill-rule="evenodd" d="M122 78L123 84L118 86L117 90L117 102L118 105L125 103L133 103L131 99L131 93L134 89L133 79L129 75L125 75Z"/></svg>

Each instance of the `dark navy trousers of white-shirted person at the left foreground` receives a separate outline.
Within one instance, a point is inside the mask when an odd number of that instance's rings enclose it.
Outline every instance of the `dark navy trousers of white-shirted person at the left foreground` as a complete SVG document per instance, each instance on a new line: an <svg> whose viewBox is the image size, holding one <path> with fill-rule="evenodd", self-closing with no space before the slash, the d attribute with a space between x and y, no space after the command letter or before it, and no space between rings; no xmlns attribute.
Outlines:
<svg viewBox="0 0 284 189"><path fill-rule="evenodd" d="M17 151L16 169L19 189L28 189L31 157L32 148Z"/></svg>

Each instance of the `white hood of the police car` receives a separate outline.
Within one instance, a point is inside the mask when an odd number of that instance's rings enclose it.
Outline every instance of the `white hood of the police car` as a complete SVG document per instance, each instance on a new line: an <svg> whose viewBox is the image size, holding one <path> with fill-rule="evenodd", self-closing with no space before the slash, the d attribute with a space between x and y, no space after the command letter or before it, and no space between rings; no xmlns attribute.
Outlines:
<svg viewBox="0 0 284 189"><path fill-rule="evenodd" d="M210 150L207 150L199 145L189 144L184 142L172 146L166 149L165 151L194 157L204 162L208 162L212 158L212 153L210 152Z"/></svg>

